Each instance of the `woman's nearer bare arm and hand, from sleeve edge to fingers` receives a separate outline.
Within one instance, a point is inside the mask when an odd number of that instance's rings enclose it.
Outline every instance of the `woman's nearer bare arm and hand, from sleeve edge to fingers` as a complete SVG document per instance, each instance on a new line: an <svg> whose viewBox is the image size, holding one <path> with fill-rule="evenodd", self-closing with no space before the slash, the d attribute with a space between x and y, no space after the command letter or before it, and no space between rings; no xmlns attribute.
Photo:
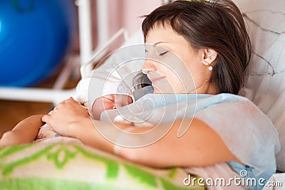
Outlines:
<svg viewBox="0 0 285 190"><path fill-rule="evenodd" d="M170 130L160 140L140 148L126 148L116 146L116 154L125 157L130 161L145 164L151 167L198 167L220 162L236 161L232 152L222 142L219 134L214 132L204 122L193 119L189 122L178 120L173 122ZM115 144L110 139L101 136L101 130L105 134L112 134L114 139L120 138L115 133L114 125L106 122L92 122L88 112L73 99L68 99L58 106L56 110L45 115L43 121L54 128L63 136L75 137L90 146L102 149L106 152L114 152ZM189 129L182 137L177 137L180 125L191 123ZM97 127L95 127L95 126ZM121 130L129 128L122 124L115 124ZM165 127L165 125L158 126ZM134 127L128 132L142 133L152 130L154 127ZM130 128L129 128L130 129ZM135 139L145 141L145 139Z"/></svg>

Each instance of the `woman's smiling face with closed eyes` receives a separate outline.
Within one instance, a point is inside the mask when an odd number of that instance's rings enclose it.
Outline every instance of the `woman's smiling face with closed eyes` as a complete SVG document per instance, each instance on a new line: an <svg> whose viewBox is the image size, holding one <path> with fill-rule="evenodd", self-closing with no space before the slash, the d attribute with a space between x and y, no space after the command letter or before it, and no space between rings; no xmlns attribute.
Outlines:
<svg viewBox="0 0 285 190"><path fill-rule="evenodd" d="M192 48L172 28L155 25L145 39L147 60L142 73L152 81L154 93L208 93L209 69L204 50Z"/></svg>

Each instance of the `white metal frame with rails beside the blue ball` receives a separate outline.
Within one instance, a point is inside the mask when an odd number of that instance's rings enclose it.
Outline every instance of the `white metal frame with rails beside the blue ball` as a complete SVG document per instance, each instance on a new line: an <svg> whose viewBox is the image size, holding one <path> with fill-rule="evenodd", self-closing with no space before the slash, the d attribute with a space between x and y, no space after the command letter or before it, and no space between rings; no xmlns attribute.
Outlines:
<svg viewBox="0 0 285 190"><path fill-rule="evenodd" d="M73 70L78 68L78 65L81 65L81 76L86 75L86 73L90 73L92 68L90 63L96 62L102 58L104 51L111 43L113 43L113 41L120 36L124 36L125 40L128 38L128 33L125 29L121 28L108 40L108 1L96 0L98 44L95 50L93 50L90 1L91 0L75 1L76 6L78 6L80 56L77 56L76 58L73 57L73 60L70 58L66 61L66 65L60 75L58 75L53 88L14 88L0 86L0 99L30 102L52 102L53 105L58 105L59 102L66 100L66 98L71 95L74 95L74 88L63 90L63 86Z"/></svg>

